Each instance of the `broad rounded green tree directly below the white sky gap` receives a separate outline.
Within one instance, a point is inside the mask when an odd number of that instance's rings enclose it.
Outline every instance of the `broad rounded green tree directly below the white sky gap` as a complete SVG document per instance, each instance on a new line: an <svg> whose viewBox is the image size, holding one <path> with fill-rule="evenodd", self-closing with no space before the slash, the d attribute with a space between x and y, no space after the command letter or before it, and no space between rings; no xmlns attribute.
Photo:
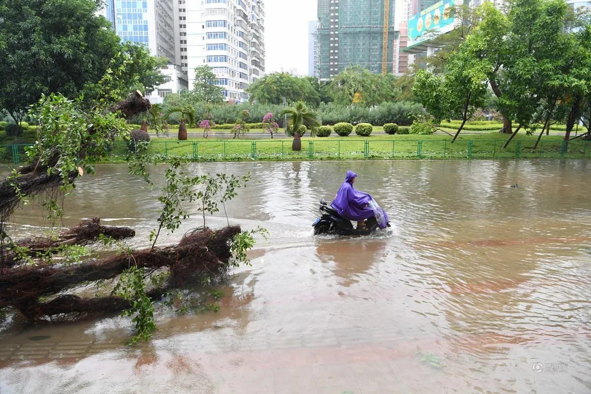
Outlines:
<svg viewBox="0 0 591 394"><path fill-rule="evenodd" d="M271 73L252 83L246 91L250 102L282 105L303 101L311 106L320 104L320 83L309 77L296 77L289 73ZM261 117L262 118L262 117Z"/></svg>

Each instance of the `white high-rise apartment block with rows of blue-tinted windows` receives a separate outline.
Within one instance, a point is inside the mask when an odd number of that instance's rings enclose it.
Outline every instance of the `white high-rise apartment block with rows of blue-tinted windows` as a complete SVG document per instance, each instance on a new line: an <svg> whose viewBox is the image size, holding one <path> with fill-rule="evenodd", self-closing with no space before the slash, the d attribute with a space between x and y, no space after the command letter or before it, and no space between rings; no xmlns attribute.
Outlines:
<svg viewBox="0 0 591 394"><path fill-rule="evenodd" d="M265 72L264 1L176 0L186 17L180 22L181 64L187 64L189 86L195 68L207 64L217 76L226 100L243 102L245 89ZM186 29L186 36L182 35ZM186 37L186 38L184 38ZM183 56L186 58L183 59Z"/></svg>

